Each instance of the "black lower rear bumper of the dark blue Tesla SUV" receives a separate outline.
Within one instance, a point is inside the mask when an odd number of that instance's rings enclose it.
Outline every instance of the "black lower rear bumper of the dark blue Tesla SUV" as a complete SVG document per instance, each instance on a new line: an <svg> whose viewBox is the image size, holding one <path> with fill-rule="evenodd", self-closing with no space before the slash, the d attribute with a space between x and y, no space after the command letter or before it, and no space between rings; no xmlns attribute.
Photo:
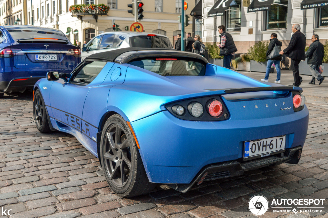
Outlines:
<svg viewBox="0 0 328 218"><path fill-rule="evenodd" d="M10 93L13 91L25 91L26 89L32 90L34 84L41 78L44 78L44 76L22 77L0 82L0 92Z"/></svg>

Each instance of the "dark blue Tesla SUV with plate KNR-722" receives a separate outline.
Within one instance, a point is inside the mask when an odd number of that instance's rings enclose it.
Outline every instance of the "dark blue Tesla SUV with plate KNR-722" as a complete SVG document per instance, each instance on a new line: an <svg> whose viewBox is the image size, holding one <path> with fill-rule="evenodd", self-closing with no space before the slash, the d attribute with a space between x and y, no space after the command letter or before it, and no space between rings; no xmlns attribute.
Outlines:
<svg viewBox="0 0 328 218"><path fill-rule="evenodd" d="M33 89L46 72L70 73L81 62L81 51L57 29L0 26L0 97Z"/></svg>

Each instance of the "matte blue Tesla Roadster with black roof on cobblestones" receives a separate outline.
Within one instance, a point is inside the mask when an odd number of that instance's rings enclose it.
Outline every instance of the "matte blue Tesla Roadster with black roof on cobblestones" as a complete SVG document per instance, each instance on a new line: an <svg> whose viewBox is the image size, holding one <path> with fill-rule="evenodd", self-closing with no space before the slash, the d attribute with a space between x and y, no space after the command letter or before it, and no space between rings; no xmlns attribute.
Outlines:
<svg viewBox="0 0 328 218"><path fill-rule="evenodd" d="M74 135L121 196L297 164L309 111L299 87L261 83L198 54L125 48L34 86L40 132Z"/></svg>

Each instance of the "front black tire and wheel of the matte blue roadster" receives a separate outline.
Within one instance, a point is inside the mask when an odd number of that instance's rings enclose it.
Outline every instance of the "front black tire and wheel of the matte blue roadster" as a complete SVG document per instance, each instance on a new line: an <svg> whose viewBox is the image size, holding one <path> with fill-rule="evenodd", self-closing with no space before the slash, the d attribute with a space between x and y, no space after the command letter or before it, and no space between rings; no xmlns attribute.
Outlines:
<svg viewBox="0 0 328 218"><path fill-rule="evenodd" d="M49 123L48 123L48 115L46 112L46 105L43 101L41 92L37 89L34 92L34 100L33 100L33 117L36 128L40 132L51 132Z"/></svg>

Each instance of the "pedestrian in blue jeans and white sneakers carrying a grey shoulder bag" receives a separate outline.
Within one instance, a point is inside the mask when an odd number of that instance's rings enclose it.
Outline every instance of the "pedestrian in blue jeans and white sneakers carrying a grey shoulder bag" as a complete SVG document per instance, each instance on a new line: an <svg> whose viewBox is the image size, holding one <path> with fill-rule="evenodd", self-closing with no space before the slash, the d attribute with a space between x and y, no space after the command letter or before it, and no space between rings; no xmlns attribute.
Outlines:
<svg viewBox="0 0 328 218"><path fill-rule="evenodd" d="M271 36L270 36L269 47L268 47L268 50L266 52L266 59L268 60L267 69L266 69L266 72L265 72L264 79L261 79L261 81L263 81L263 82L269 82L270 69L271 69L272 64L275 64L275 68L277 70L277 80L275 81L275 83L280 83L280 60L281 60L281 55L279 55L277 57L273 57L273 58L268 57L269 53L272 52L272 50L274 49L275 46L282 46L282 42L280 42L277 39L277 33L272 33Z"/></svg>

